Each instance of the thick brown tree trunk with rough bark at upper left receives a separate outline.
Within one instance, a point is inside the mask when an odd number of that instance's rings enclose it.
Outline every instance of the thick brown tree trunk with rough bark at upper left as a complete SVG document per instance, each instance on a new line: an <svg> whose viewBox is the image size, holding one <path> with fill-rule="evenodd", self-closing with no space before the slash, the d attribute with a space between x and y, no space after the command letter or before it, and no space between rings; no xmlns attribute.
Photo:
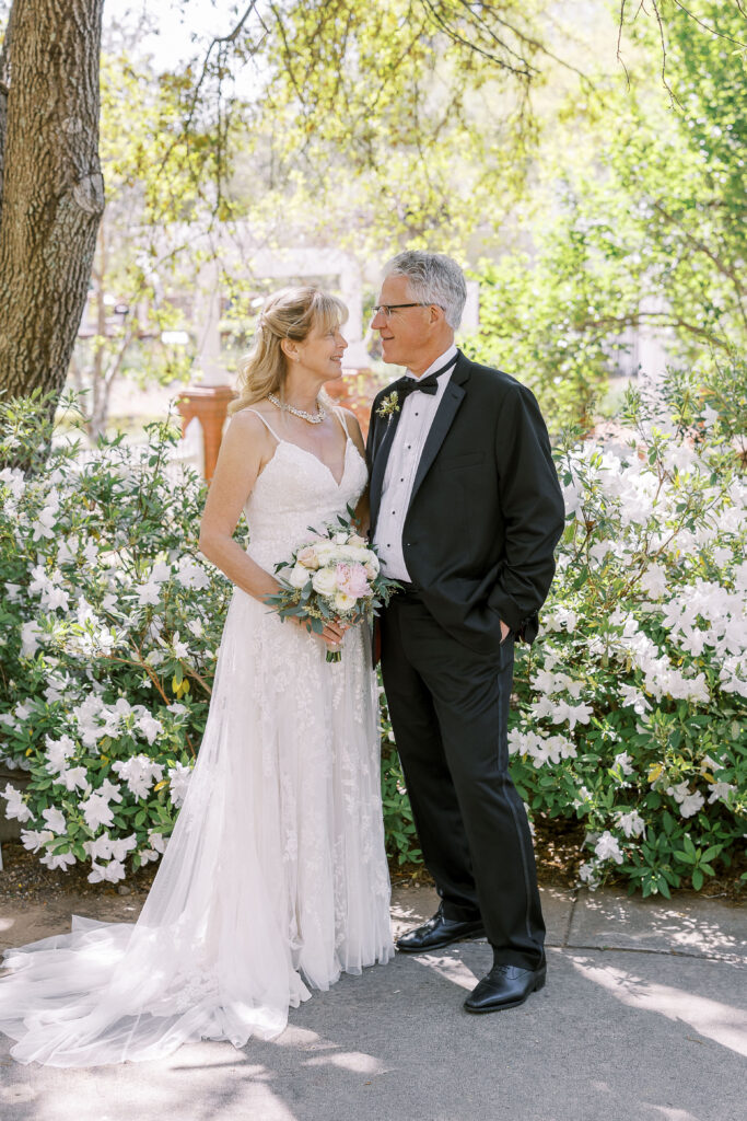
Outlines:
<svg viewBox="0 0 747 1121"><path fill-rule="evenodd" d="M85 307L104 209L102 8L15 0L11 9L4 106L0 74L0 391L10 396L62 391Z"/></svg>

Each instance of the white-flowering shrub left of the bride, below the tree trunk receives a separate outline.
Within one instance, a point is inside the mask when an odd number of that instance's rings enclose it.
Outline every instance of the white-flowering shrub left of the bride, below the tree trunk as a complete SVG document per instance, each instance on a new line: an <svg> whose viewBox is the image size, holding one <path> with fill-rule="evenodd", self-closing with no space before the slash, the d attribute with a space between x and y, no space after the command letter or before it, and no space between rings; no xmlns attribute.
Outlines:
<svg viewBox="0 0 747 1121"><path fill-rule="evenodd" d="M168 424L144 454L83 457L53 427L38 399L0 404L0 763L25 779L0 796L48 868L116 882L171 832L231 586Z"/></svg>

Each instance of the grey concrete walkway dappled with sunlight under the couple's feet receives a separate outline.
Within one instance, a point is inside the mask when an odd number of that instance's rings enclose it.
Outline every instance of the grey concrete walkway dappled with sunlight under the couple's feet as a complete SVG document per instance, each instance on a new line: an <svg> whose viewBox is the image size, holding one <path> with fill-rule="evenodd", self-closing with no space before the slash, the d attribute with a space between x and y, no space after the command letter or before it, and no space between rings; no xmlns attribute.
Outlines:
<svg viewBox="0 0 747 1121"><path fill-rule="evenodd" d="M399 932L432 914L395 891ZM398 955L291 1011L274 1043L194 1044L164 1063L21 1067L0 1037L3 1121L744 1121L744 910L547 888L547 988L522 1008L461 1009L485 942ZM133 897L80 914L132 920ZM0 910L0 944L67 928L71 900Z"/></svg>

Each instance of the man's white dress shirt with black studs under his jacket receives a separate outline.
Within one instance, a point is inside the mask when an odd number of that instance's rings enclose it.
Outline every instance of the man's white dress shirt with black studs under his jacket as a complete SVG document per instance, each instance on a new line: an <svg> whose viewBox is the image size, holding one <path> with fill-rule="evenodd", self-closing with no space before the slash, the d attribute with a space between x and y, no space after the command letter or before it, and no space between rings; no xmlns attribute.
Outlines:
<svg viewBox="0 0 747 1121"><path fill-rule="evenodd" d="M457 348L454 344L443 351L420 378L415 378L414 373L411 373L410 370L407 371L407 376L414 378L415 381L420 381L421 378L427 378L433 370L438 370L439 367L445 365L450 358L454 359L454 364L456 365ZM408 572L408 566L404 563L404 554L402 553L404 518L410 506L412 485L418 472L423 445L452 373L454 365L438 378L437 392L408 393L402 404L400 419L386 462L376 531L374 534L374 545L379 549L379 557L384 574L390 580L404 580L408 583L412 583L412 577Z"/></svg>

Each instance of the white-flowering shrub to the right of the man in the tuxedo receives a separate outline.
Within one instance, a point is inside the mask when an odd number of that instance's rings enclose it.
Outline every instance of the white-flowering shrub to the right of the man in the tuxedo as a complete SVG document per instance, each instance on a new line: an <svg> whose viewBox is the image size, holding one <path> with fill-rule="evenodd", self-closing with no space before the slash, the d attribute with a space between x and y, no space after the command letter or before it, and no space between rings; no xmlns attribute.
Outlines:
<svg viewBox="0 0 747 1121"><path fill-rule="evenodd" d="M698 890L745 834L744 367L719 386L632 392L613 446L558 456L568 525L510 748L532 810L586 821L590 886Z"/></svg>

